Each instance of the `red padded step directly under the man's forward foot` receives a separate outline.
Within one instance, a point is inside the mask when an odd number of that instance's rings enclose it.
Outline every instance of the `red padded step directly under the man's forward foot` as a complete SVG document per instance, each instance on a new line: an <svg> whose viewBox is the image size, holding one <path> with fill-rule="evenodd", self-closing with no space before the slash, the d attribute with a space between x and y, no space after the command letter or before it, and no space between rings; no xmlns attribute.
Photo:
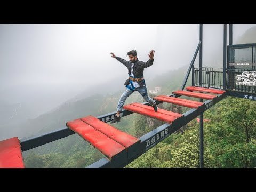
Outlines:
<svg viewBox="0 0 256 192"><path fill-rule="evenodd" d="M164 121L169 124L171 124L175 119L183 116L182 114L174 113L174 112L167 111L164 109L159 109L159 108L157 112L155 112L153 107L143 105L141 103L131 103L129 105L125 105L123 108L129 111L132 111L134 113L138 113L141 115L158 119L160 121Z"/></svg>

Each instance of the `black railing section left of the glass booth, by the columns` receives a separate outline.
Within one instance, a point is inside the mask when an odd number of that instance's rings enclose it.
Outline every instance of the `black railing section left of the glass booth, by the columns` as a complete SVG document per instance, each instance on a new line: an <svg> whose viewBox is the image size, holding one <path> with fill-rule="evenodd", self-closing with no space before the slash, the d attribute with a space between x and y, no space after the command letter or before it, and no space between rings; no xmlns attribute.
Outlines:
<svg viewBox="0 0 256 192"><path fill-rule="evenodd" d="M223 89L223 68L203 67L202 84L199 82L200 68L194 69L194 86Z"/></svg>

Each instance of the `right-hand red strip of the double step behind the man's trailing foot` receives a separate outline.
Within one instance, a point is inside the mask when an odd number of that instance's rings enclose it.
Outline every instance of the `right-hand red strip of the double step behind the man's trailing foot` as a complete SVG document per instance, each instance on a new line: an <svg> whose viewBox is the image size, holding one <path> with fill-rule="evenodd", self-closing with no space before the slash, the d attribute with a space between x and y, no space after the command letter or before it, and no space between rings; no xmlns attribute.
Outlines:
<svg viewBox="0 0 256 192"><path fill-rule="evenodd" d="M122 132L113 126L100 121L94 116L89 115L80 119L126 148L129 148L134 143L140 142L139 139L133 137L132 135Z"/></svg>

